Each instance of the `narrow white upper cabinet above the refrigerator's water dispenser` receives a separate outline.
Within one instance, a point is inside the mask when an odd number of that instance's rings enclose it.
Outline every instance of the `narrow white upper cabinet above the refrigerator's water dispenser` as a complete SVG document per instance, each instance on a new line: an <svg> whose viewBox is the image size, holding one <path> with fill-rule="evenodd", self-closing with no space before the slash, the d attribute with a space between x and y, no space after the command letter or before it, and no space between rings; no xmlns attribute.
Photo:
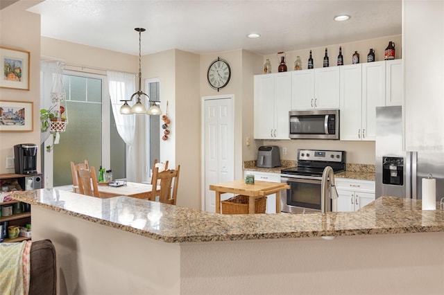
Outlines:
<svg viewBox="0 0 444 295"><path fill-rule="evenodd" d="M386 106L402 105L402 60L386 61Z"/></svg>

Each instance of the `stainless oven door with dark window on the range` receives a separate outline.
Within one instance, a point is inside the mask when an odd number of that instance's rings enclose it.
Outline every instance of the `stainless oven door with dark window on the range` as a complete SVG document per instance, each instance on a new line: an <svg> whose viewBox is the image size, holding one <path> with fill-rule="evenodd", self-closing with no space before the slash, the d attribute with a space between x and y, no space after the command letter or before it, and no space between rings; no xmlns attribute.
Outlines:
<svg viewBox="0 0 444 295"><path fill-rule="evenodd" d="M287 213L321 212L321 178L281 175L289 189L281 192L281 211Z"/></svg>

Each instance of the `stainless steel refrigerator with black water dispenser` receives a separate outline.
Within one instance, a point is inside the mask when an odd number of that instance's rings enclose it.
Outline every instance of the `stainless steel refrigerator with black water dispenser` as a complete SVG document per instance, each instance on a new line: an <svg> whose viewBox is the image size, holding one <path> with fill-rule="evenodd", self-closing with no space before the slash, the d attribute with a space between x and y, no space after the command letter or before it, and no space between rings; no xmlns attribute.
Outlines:
<svg viewBox="0 0 444 295"><path fill-rule="evenodd" d="M436 201L444 197L444 152L403 150L402 108L376 108L376 197L421 199L422 178L436 179Z"/></svg>

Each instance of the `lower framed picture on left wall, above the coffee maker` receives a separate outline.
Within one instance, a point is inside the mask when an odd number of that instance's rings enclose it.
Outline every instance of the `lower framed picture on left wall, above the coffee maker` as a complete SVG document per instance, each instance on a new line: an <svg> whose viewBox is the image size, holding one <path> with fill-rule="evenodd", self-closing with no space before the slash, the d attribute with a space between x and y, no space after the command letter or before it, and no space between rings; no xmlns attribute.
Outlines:
<svg viewBox="0 0 444 295"><path fill-rule="evenodd" d="M0 131L33 131L33 102L0 100Z"/></svg>

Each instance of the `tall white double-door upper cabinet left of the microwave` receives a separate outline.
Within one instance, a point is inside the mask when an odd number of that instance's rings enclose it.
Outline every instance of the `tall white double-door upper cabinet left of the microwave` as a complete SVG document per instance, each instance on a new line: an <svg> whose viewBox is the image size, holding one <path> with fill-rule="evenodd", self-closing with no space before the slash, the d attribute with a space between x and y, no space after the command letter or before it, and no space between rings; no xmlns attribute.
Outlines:
<svg viewBox="0 0 444 295"><path fill-rule="evenodd" d="M255 138L289 139L291 72L255 75Z"/></svg>

